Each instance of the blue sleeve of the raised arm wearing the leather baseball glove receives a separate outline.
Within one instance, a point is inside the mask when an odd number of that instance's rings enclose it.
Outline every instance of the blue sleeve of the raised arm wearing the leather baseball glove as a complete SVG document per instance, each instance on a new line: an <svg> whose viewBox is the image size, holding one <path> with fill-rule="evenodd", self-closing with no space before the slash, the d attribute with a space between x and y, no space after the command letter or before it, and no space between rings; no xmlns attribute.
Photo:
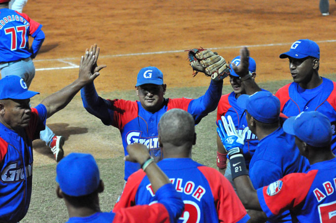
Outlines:
<svg viewBox="0 0 336 223"><path fill-rule="evenodd" d="M218 102L222 95L223 81L215 82L211 80L207 92L190 102L188 112L195 118L195 123L198 124L203 117L217 108Z"/></svg>

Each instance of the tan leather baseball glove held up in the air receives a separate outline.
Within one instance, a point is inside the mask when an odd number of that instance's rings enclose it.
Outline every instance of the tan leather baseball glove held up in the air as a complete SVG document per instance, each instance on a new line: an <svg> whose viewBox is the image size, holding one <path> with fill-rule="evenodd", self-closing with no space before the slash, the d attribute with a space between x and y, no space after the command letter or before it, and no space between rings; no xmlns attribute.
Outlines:
<svg viewBox="0 0 336 223"><path fill-rule="evenodd" d="M202 72L207 76L211 76L213 80L219 81L230 74L229 65L216 52L203 49L202 47L186 51L188 51L190 66L193 68L193 76Z"/></svg>

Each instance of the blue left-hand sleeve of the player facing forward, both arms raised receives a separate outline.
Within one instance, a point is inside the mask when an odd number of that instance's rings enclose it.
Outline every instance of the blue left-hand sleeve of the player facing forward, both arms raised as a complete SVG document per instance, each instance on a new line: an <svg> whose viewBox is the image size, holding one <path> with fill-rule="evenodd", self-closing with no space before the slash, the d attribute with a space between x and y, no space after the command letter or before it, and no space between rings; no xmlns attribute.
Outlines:
<svg viewBox="0 0 336 223"><path fill-rule="evenodd" d="M99 118L105 125L112 123L113 111L110 102L98 96L93 82L81 89L83 106L86 111Z"/></svg>

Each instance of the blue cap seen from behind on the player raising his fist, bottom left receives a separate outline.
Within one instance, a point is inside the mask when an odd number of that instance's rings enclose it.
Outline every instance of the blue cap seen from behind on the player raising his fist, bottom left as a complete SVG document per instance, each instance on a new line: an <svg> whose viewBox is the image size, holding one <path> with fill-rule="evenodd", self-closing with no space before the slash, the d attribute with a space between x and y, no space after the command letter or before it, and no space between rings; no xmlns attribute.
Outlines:
<svg viewBox="0 0 336 223"><path fill-rule="evenodd" d="M100 182L99 169L91 154L70 153L56 167L56 182L70 196L84 196L94 192Z"/></svg>

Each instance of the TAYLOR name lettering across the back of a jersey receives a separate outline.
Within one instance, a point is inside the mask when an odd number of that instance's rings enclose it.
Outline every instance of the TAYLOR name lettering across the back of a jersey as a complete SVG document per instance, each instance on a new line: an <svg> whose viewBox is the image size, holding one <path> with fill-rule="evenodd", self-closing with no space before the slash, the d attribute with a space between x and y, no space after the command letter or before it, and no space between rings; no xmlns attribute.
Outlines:
<svg viewBox="0 0 336 223"><path fill-rule="evenodd" d="M175 186L175 190L180 193L184 193L186 195L191 195L196 200L201 201L203 195L206 193L206 189L203 186L195 186L195 183L192 181L188 181L186 183L183 183L183 179L181 178L169 178L171 184ZM148 184L146 186L148 192L151 194L152 197L154 197L154 192L152 189L152 185Z"/></svg>

